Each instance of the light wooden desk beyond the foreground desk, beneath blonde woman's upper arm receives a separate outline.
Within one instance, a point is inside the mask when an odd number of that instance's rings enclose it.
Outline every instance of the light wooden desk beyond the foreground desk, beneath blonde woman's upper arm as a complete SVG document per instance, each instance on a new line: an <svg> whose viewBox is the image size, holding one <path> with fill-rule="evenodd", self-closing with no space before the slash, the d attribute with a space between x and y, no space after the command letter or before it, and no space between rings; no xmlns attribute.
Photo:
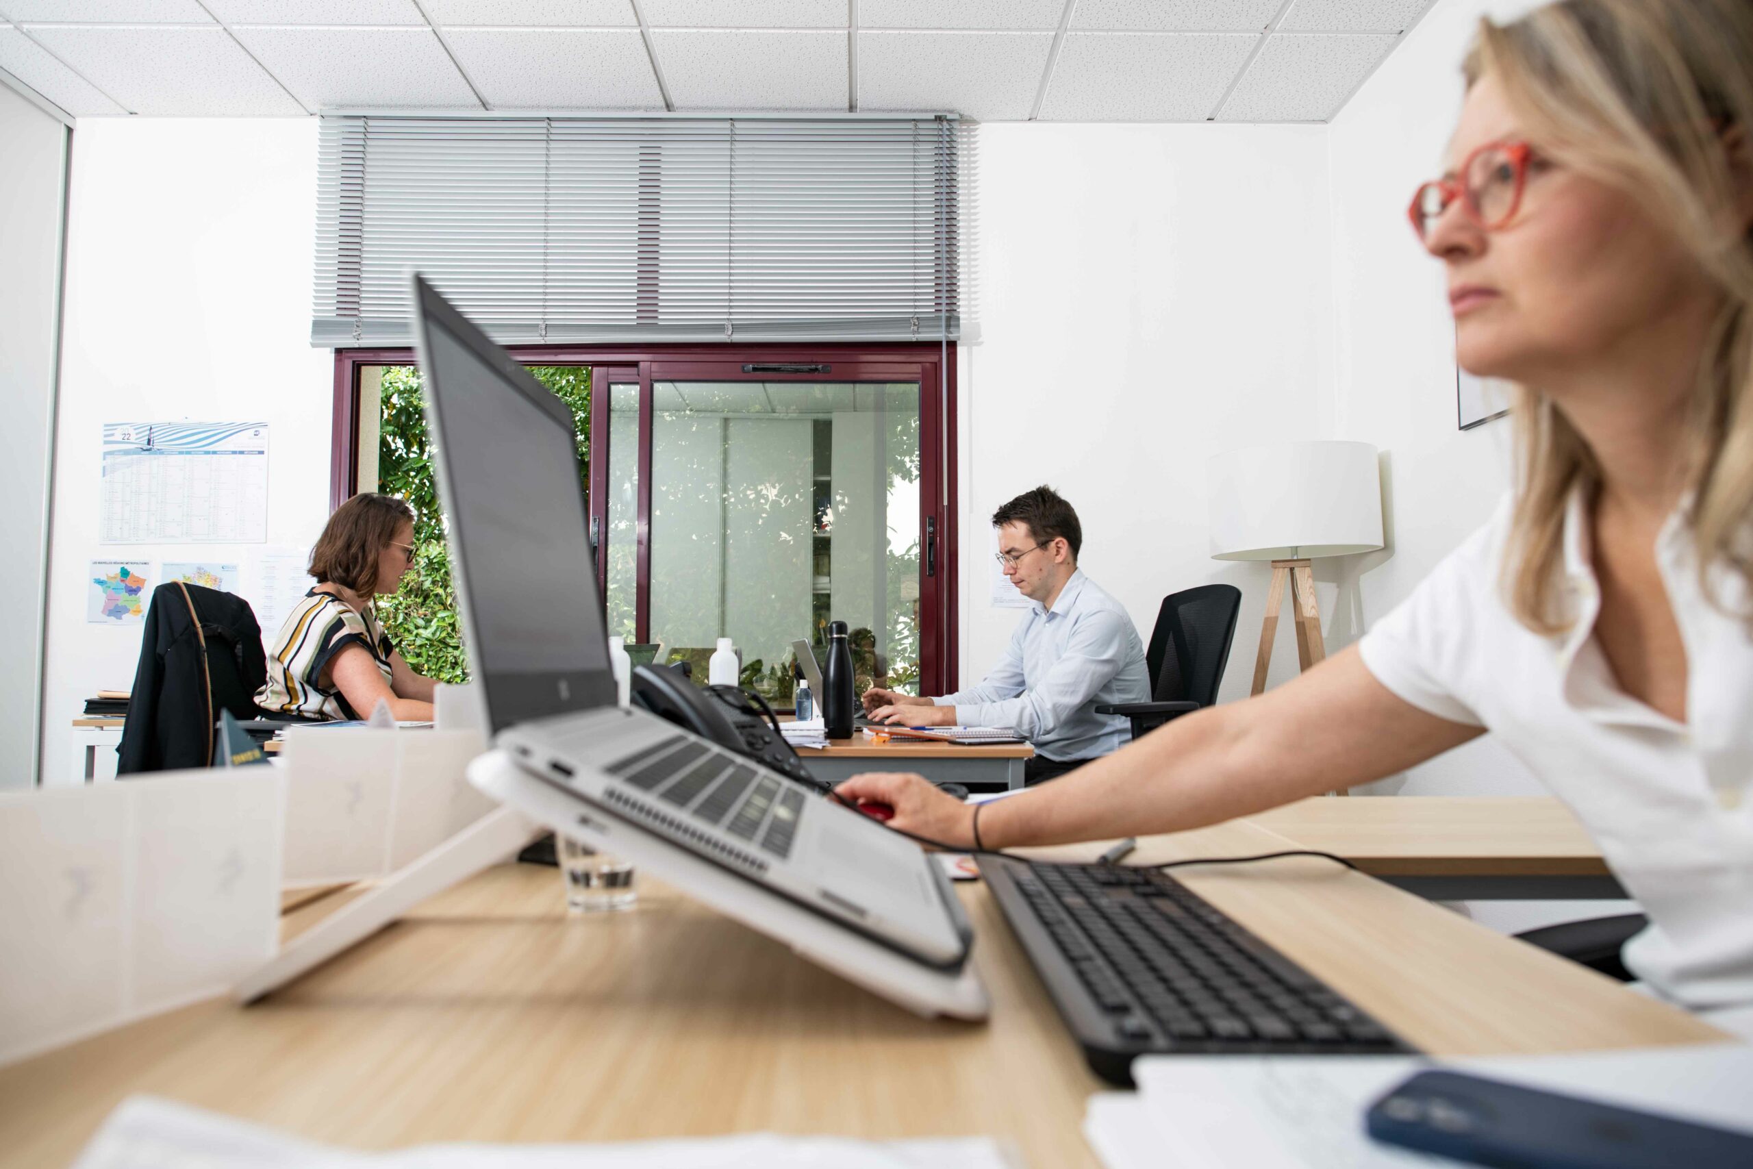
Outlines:
<svg viewBox="0 0 1753 1169"><path fill-rule="evenodd" d="M1317 796L1248 822L1437 901L1627 896L1593 838L1550 796Z"/></svg>

